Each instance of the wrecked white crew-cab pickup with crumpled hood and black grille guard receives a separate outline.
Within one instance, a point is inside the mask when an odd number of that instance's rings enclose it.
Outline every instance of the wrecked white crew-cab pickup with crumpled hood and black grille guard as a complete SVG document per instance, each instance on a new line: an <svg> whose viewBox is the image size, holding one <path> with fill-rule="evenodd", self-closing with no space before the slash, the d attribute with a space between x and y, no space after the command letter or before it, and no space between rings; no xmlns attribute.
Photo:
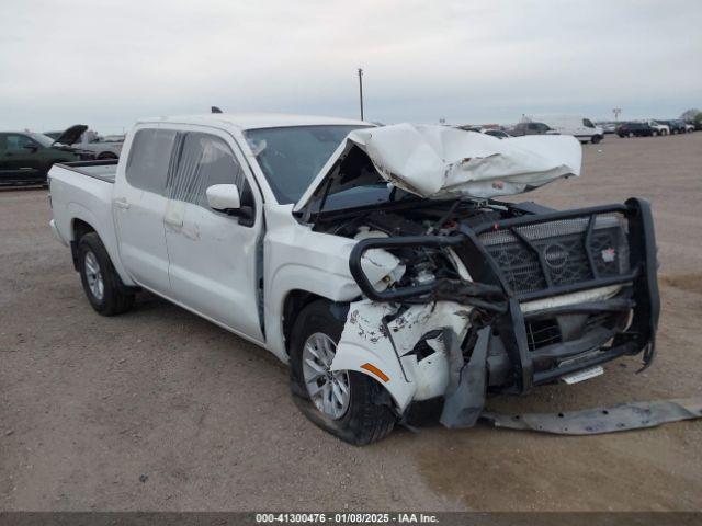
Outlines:
<svg viewBox="0 0 702 526"><path fill-rule="evenodd" d="M147 119L116 161L55 165L56 237L104 316L148 289L291 365L353 444L412 402L469 426L487 392L654 355L649 207L495 201L580 170L573 137L290 115Z"/></svg>

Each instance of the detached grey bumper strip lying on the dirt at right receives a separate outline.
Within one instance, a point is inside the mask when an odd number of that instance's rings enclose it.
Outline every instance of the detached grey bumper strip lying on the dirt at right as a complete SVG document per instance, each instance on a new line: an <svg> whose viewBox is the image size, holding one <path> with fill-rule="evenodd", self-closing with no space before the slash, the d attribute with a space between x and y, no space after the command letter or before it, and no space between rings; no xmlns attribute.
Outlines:
<svg viewBox="0 0 702 526"><path fill-rule="evenodd" d="M611 408L562 413L502 414L485 411L480 418L496 427L557 435L599 435L656 427L669 422L702 419L702 397L621 403Z"/></svg>

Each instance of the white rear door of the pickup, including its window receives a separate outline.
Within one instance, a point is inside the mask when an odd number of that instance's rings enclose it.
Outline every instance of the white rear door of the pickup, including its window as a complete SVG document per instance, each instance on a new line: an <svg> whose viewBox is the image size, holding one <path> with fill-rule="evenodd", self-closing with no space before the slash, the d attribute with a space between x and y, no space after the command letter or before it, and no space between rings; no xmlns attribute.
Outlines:
<svg viewBox="0 0 702 526"><path fill-rule="evenodd" d="M124 267L139 285L168 297L171 287L163 213L176 135L158 124L136 129L126 163L117 165L112 201Z"/></svg>

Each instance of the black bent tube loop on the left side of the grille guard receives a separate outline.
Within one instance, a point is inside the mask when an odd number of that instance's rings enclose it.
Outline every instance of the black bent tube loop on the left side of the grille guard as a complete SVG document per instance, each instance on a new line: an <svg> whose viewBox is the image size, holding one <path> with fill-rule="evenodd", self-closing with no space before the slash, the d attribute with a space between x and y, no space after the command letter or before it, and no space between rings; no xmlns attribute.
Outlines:
<svg viewBox="0 0 702 526"><path fill-rule="evenodd" d="M506 310L506 295L502 287L499 286L463 279L439 278L426 285L377 290L366 277L361 265L363 254L373 249L388 250L410 247L443 249L461 245L465 241L466 238L463 235L364 239L353 247L349 258L349 268L363 294L374 301L428 302L453 300L492 312L503 312Z"/></svg>

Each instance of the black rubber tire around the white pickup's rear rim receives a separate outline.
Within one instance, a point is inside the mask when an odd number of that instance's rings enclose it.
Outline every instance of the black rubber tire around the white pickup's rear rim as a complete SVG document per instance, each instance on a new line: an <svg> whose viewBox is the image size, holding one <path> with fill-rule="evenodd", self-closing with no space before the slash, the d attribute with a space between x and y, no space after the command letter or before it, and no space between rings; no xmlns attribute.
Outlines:
<svg viewBox="0 0 702 526"><path fill-rule="evenodd" d="M91 289L89 284L89 274L91 271L88 265L88 254L92 254L94 261L100 268L100 278L103 284L102 297ZM94 262L93 262L94 264ZM102 244L100 236L95 232L86 233L78 241L78 267L80 271L80 281L88 300L95 312L102 316L115 316L126 312L134 305L134 293L122 283L120 275L114 270L107 251Z"/></svg>

